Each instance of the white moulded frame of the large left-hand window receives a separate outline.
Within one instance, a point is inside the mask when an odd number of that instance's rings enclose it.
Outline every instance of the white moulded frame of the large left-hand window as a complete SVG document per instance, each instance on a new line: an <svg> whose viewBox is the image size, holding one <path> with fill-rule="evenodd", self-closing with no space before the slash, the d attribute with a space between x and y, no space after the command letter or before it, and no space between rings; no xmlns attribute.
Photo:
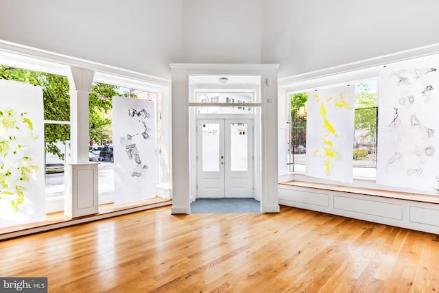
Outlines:
<svg viewBox="0 0 439 293"><path fill-rule="evenodd" d="M158 115L162 128L165 129L157 152L161 158L163 181L157 182L157 195L171 198L171 81L145 73L134 72L96 62L54 54L49 51L34 49L19 44L0 40L0 64L30 71L40 71L54 75L71 76L71 67L83 67L94 71L93 82L117 84L118 86L139 89L156 93L161 101L162 108ZM69 78L71 83L71 78ZM158 119L158 117L156 117ZM70 121L45 121L45 124L71 124ZM156 124L157 125L157 124ZM169 129L169 130L168 130ZM156 139L158 143L158 137ZM64 197L46 197L46 213L62 211Z"/></svg>

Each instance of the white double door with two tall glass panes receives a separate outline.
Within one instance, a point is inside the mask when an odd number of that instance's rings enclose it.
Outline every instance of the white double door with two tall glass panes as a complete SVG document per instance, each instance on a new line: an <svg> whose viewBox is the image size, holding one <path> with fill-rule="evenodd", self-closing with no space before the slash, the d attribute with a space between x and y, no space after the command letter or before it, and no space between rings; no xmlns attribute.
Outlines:
<svg viewBox="0 0 439 293"><path fill-rule="evenodd" d="M197 120L198 198L253 198L252 119Z"/></svg>

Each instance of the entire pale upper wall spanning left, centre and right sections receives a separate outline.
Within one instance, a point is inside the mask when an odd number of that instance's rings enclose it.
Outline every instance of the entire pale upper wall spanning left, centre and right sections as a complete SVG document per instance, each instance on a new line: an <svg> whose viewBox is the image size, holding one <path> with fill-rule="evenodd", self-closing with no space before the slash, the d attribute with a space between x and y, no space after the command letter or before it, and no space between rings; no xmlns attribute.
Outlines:
<svg viewBox="0 0 439 293"><path fill-rule="evenodd" d="M171 62L278 77L439 43L437 0L0 0L0 39L170 78Z"/></svg>

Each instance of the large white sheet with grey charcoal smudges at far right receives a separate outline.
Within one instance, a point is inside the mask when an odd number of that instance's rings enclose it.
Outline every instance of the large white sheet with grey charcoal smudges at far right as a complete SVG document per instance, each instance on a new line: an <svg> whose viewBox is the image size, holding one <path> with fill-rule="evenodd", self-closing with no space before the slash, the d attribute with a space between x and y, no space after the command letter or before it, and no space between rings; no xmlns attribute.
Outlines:
<svg viewBox="0 0 439 293"><path fill-rule="evenodd" d="M383 67L379 78L377 183L437 193L439 58Z"/></svg>

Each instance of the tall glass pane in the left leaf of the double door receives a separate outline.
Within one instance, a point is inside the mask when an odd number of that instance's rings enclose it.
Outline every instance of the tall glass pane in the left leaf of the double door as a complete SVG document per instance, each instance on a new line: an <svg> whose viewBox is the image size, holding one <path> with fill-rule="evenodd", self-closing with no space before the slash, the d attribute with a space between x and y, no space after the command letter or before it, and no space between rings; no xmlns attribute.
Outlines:
<svg viewBox="0 0 439 293"><path fill-rule="evenodd" d="M203 124L202 163L203 172L219 171L219 124Z"/></svg>

